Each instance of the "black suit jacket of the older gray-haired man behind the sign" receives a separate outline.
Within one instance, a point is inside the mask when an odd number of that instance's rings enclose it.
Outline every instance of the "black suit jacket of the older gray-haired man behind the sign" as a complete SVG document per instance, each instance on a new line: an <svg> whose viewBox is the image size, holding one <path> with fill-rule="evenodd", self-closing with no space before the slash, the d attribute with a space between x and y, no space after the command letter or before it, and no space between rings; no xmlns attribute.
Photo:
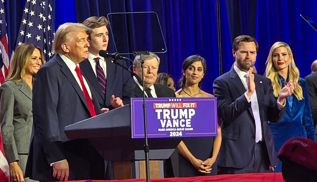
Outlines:
<svg viewBox="0 0 317 182"><path fill-rule="evenodd" d="M134 86L134 96L133 97L143 97L143 91L138 86L138 84L136 84L136 82L134 81L133 78L132 78L131 82L133 82L133 86ZM174 91L171 88L168 88L164 85L154 83L154 89L155 89L155 94L158 97L176 97Z"/></svg>

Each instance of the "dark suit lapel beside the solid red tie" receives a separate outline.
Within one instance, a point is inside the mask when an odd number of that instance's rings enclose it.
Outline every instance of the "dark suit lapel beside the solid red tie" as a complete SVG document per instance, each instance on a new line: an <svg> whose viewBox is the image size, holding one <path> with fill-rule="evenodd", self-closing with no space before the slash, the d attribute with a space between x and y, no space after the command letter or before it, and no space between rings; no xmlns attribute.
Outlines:
<svg viewBox="0 0 317 182"><path fill-rule="evenodd" d="M84 103L84 105L86 106L87 110L89 111L89 108L88 108L87 101L86 101L86 98L84 96L84 93L82 92L81 88L79 87L78 82L76 81L74 75L72 74L72 72L69 70L69 68L66 65L66 63L62 60L62 58L58 54L57 54L57 59L56 60L57 60L57 63L59 65L61 65L61 72L66 76L66 78L68 79L70 84L73 86L73 88L77 92L79 98Z"/></svg>

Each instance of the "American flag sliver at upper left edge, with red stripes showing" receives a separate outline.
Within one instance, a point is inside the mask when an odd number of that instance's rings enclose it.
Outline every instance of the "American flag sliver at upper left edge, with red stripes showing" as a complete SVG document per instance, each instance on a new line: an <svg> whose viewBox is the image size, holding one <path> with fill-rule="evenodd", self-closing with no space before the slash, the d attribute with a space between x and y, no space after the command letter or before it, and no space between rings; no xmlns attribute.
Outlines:
<svg viewBox="0 0 317 182"><path fill-rule="evenodd" d="M0 83L4 82L4 79L9 74L10 62L9 62L9 49L8 49L8 36L7 36L7 23L5 21L4 12L4 0L0 1ZM0 84L0 85L1 85Z"/></svg>

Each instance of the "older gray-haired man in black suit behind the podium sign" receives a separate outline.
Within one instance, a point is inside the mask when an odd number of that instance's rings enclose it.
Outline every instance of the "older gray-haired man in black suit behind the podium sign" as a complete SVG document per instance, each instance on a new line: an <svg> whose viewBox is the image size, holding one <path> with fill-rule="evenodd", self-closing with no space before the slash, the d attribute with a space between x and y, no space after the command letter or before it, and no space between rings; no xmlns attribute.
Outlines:
<svg viewBox="0 0 317 182"><path fill-rule="evenodd" d="M176 97L174 91L164 85L156 84L158 76L159 57L150 52L144 56L144 85L146 97ZM141 57L136 56L133 60L133 71L142 79ZM132 78L134 84L134 97L143 97L142 83L139 83L135 76Z"/></svg>

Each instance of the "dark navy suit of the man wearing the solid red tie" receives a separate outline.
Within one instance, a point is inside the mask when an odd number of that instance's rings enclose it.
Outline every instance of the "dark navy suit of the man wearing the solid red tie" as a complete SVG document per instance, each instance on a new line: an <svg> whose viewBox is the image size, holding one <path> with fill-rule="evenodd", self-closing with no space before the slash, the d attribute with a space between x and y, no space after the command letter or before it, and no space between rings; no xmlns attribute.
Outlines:
<svg viewBox="0 0 317 182"><path fill-rule="evenodd" d="M83 75L86 77L85 75ZM88 84L91 85L86 79ZM92 86L89 86L92 88ZM94 103L98 100L92 94ZM33 130L25 177L39 181L56 181L51 163L67 159L69 180L91 179L90 158L93 151L87 140L71 140L64 127L90 118L85 96L68 66L56 54L37 72L33 84ZM96 114L100 113L94 104Z"/></svg>

